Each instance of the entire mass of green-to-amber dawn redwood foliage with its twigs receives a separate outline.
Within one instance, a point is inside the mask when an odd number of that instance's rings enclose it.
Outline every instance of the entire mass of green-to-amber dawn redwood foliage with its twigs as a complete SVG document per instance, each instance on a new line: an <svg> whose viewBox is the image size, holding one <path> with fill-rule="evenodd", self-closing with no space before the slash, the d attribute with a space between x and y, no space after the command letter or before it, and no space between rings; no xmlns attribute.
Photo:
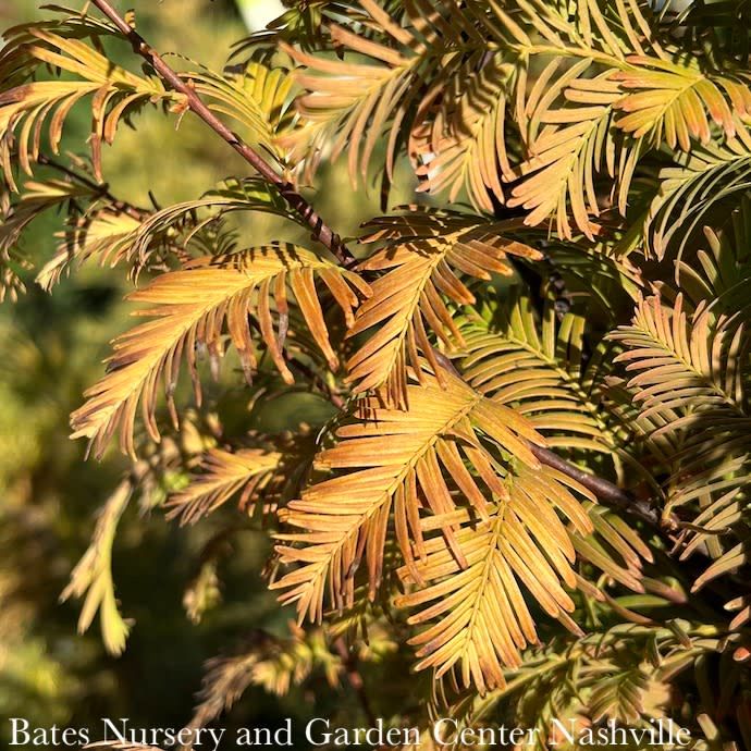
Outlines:
<svg viewBox="0 0 751 751"><path fill-rule="evenodd" d="M98 612L124 648L118 520L181 475L167 518L264 530L264 574L299 616L210 665L194 727L250 684L319 670L370 721L374 704L426 729L506 722L544 748L554 718L669 717L697 749L751 748L747 5L287 5L222 72L161 58L103 0L0 52L4 292L34 264L53 291L107 263L148 319L72 416L95 456L116 440L133 461L65 593L82 628ZM109 56L128 44L123 67ZM82 107L89 156L69 159ZM255 171L175 206L121 200L101 151L145 108L198 115ZM303 197L338 159L384 207L347 243ZM418 194L394 208L405 162ZM24 255L56 211L57 254ZM239 212L308 239L254 245ZM301 385L332 417L218 424L212 377L246 405ZM202 455L175 442L188 429ZM195 619L217 600L204 561ZM414 669L387 679L418 699L390 706L366 688L392 652Z"/></svg>

